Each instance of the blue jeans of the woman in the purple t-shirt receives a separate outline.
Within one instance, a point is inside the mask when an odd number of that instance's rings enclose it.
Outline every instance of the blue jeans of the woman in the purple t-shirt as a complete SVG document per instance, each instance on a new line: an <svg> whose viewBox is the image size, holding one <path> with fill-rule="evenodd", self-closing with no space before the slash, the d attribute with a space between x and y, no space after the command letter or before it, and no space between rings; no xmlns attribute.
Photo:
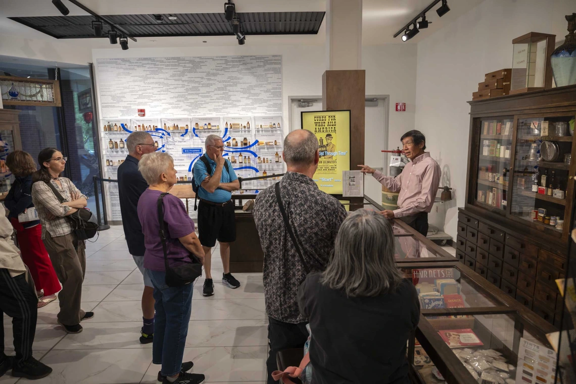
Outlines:
<svg viewBox="0 0 576 384"><path fill-rule="evenodd" d="M194 285L169 287L166 285L166 272L147 269L146 273L154 285L156 301L152 363L162 364L162 375L174 376L182 369Z"/></svg>

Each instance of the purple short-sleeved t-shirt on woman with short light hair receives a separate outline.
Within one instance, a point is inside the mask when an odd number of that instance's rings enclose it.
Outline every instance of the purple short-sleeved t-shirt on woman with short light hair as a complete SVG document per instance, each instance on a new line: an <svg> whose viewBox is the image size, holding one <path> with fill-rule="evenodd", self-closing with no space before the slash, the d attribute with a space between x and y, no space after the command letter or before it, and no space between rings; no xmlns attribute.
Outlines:
<svg viewBox="0 0 576 384"><path fill-rule="evenodd" d="M144 234L144 267L153 271L165 271L164 252L160 240L160 225L158 225L157 200L160 191L146 189L138 200L138 218L142 224ZM166 244L168 245L169 259L187 259L190 251L178 240L179 237L190 235L194 232L194 221L186 213L184 203L174 195L165 195L164 203L164 227Z"/></svg>

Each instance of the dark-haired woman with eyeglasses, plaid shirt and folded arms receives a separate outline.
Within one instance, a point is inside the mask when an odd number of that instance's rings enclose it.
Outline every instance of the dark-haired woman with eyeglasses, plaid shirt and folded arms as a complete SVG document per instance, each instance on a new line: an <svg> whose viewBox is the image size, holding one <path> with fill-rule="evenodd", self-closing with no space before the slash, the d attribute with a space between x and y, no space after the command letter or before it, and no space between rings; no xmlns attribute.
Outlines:
<svg viewBox="0 0 576 384"><path fill-rule="evenodd" d="M84 209L88 199L65 177L60 177L66 158L55 148L44 148L38 154L40 169L32 175L32 202L42 224L42 240L62 283L58 294L58 324L68 333L82 332L80 321L94 317L80 308L82 281L86 271L86 245L78 240L70 216ZM63 197L60 203L56 193Z"/></svg>

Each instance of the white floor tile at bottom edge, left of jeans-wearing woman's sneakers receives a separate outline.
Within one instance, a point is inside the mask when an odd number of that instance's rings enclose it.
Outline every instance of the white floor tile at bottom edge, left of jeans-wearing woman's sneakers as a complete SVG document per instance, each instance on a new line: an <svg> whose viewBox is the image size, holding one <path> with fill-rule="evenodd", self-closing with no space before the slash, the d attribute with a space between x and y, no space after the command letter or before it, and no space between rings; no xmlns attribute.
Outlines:
<svg viewBox="0 0 576 384"><path fill-rule="evenodd" d="M42 359L54 371L35 384L121 384L138 383L152 362L150 350L50 351Z"/></svg>

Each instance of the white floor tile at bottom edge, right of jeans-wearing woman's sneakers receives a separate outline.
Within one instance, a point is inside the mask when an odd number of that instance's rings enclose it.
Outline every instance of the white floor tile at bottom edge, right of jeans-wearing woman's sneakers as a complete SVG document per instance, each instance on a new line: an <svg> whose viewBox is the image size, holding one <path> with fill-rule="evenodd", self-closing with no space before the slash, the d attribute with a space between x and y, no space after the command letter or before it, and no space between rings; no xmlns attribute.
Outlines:
<svg viewBox="0 0 576 384"><path fill-rule="evenodd" d="M184 361L193 361L192 372L206 375L206 382L262 382L266 379L266 347L185 348ZM152 364L142 383L154 383L160 366Z"/></svg>

